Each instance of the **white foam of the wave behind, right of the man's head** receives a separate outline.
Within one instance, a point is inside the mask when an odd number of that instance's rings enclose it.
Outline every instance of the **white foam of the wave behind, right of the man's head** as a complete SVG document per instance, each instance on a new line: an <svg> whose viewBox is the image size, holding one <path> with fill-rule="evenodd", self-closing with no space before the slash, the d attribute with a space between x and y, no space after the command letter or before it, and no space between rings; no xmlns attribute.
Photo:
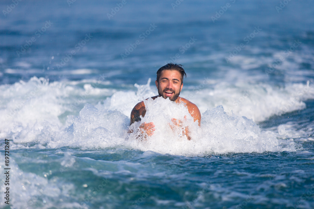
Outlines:
<svg viewBox="0 0 314 209"><path fill-rule="evenodd" d="M307 84L289 84L285 87L220 83L212 89L183 91L182 97L197 104L201 112L222 105L229 115L233 112L261 122L273 115L304 109L304 101L314 99L314 83L308 81Z"/></svg>

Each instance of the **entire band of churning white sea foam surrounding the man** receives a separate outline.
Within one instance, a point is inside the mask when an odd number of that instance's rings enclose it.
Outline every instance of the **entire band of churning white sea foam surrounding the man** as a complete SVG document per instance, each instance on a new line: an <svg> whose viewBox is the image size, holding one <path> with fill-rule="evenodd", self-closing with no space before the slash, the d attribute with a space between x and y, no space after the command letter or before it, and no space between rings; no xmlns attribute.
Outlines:
<svg viewBox="0 0 314 209"><path fill-rule="evenodd" d="M156 131L151 139L139 141L134 134L127 133L129 116L136 103L157 93L151 89L150 80L146 85L136 84L136 92L91 85L97 81L75 82L49 83L34 77L28 82L1 85L0 123L4 125L0 137L11 138L12 149L126 146L183 155L293 151L293 139L287 139L295 138L299 130L280 126L263 131L253 121L305 108L304 101L314 98L310 81L282 88L221 83L198 92L189 89L181 95L198 105L202 112L201 128L192 121L183 104L163 98L147 100L142 122L154 122ZM188 116L187 120L182 118L184 115ZM190 127L191 141L181 136L182 130L173 131L169 127L171 118L180 119ZM139 124L133 125L135 130L136 125Z"/></svg>

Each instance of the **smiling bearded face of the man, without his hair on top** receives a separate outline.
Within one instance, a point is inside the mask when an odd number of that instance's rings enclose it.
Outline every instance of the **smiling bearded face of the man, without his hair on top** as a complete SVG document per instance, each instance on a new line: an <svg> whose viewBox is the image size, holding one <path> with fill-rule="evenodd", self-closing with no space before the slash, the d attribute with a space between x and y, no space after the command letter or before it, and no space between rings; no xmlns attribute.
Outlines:
<svg viewBox="0 0 314 209"><path fill-rule="evenodd" d="M159 81L155 81L160 97L169 99L173 102L177 102L177 98L183 87L181 84L181 74L176 70L164 70L161 72Z"/></svg>

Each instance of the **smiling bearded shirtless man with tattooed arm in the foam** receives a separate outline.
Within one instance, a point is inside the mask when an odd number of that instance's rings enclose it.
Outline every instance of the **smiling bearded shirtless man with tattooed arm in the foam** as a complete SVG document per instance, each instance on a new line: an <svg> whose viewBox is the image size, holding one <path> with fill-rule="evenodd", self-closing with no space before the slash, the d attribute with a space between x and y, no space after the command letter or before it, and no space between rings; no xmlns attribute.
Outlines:
<svg viewBox="0 0 314 209"><path fill-rule="evenodd" d="M173 63L169 63L165 66L162 66L157 71L157 80L155 81L156 87L158 89L158 96L152 97L156 99L157 97L169 98L171 101L176 103L184 103L187 107L190 115L194 118L194 122L198 121L198 125L201 125L201 113L199 112L198 107L192 102L188 101L185 98L179 97L180 92L183 87L183 76L187 77L182 65L177 65ZM139 102L133 108L131 112L131 122L141 121L140 116L144 117L146 113L144 102ZM185 116L184 118L186 118ZM181 127L181 121L175 118L171 119L174 125ZM151 136L154 134L155 125L153 122L151 123L142 123L139 128L144 137ZM171 127L172 128L172 127ZM133 130L131 130L133 132ZM146 133L146 134L144 134ZM187 135L187 138L191 140L189 136L188 127L183 127L183 135Z"/></svg>

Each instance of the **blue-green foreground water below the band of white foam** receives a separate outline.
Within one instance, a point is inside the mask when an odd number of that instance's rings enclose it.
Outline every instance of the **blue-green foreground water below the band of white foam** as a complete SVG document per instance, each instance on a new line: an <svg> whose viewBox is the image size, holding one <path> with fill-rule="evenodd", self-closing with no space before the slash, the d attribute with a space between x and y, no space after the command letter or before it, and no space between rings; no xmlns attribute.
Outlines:
<svg viewBox="0 0 314 209"><path fill-rule="evenodd" d="M311 143L303 146L313 149ZM299 201L298 207L312 207L313 155L307 151L206 157L119 148L25 151L14 155L20 169L47 175L42 194L27 201L37 207L292 208ZM23 165L25 158L37 160Z"/></svg>

